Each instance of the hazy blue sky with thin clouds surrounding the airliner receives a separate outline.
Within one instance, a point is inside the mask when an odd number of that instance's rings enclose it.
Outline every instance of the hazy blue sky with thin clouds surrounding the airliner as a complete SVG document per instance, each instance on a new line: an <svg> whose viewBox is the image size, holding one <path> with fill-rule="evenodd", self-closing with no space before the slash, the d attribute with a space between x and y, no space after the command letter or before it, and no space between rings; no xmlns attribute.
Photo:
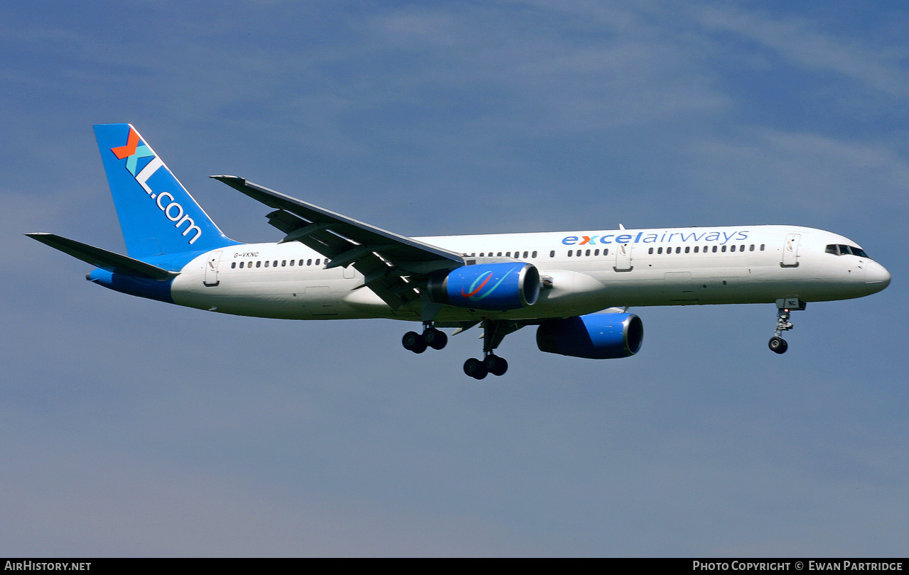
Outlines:
<svg viewBox="0 0 909 575"><path fill-rule="evenodd" d="M902 3L0 7L0 553L899 555L909 539ZM637 309L642 351L500 348L109 292L92 124L130 122L229 236L256 183L409 235L794 223L879 294Z"/></svg>

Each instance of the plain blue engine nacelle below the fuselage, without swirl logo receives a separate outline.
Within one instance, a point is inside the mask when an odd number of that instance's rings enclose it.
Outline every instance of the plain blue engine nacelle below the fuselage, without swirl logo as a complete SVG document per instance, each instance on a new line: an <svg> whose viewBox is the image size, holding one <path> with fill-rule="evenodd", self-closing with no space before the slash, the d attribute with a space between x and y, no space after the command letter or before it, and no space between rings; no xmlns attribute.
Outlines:
<svg viewBox="0 0 909 575"><path fill-rule="evenodd" d="M536 330L541 352L591 360L634 355L644 341L644 322L634 313L591 313L548 320Z"/></svg>

